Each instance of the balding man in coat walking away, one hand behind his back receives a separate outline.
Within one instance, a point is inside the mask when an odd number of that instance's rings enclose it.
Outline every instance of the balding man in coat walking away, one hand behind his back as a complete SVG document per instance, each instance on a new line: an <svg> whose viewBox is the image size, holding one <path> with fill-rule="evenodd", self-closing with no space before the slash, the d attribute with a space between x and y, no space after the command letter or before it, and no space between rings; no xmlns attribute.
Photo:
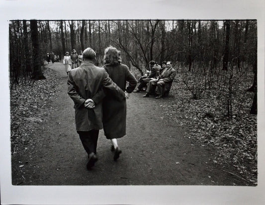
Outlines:
<svg viewBox="0 0 265 205"><path fill-rule="evenodd" d="M96 146L99 129L102 129L102 98L94 97L102 88L110 92L119 101L125 93L109 78L104 68L96 67L95 52L87 48L83 52L83 64L72 69L68 75L68 95L75 103L76 129L81 142L88 153L87 169L97 161ZM86 108L89 102L94 103L93 109Z"/></svg>

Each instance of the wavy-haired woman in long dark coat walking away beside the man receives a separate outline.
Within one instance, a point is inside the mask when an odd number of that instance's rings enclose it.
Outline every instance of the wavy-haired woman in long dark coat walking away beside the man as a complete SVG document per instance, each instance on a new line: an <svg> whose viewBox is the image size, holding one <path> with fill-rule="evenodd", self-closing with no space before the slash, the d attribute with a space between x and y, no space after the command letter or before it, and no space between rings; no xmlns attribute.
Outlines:
<svg viewBox="0 0 265 205"><path fill-rule="evenodd" d="M104 68L111 80L120 89L132 93L137 85L136 78L129 71L129 68L121 64L120 51L114 47L108 47L104 53ZM126 83L129 85L126 88ZM119 158L121 150L118 147L117 138L126 135L126 99L117 101L111 94L106 93L102 103L104 135L112 142L114 161Z"/></svg>

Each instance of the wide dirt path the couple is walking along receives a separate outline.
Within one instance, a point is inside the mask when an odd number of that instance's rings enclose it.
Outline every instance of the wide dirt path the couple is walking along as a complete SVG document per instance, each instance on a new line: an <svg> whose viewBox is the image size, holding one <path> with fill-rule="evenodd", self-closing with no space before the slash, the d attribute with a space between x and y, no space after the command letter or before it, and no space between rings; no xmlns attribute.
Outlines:
<svg viewBox="0 0 265 205"><path fill-rule="evenodd" d="M121 157L113 161L110 141L99 132L98 162L86 170L87 154L75 129L73 101L67 95L62 63L50 65L62 83L45 118L32 136L33 145L12 158L13 185L245 185L233 166L214 163L215 150L188 138L188 130L163 115L172 98L127 101L127 136L118 140ZM225 170L225 171L223 171Z"/></svg>

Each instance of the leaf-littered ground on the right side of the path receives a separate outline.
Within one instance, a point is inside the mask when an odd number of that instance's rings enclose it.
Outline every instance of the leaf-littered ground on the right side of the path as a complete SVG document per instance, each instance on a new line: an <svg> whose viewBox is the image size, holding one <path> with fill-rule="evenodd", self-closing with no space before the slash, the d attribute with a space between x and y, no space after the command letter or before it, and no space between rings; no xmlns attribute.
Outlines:
<svg viewBox="0 0 265 205"><path fill-rule="evenodd" d="M181 74L177 74L170 91L174 98L160 106L170 120L190 130L189 139L216 148L214 163L232 164L243 179L257 185L257 115L249 113L254 94L246 92L252 80L246 76L235 85L231 118L225 116L224 94L212 88L207 98L193 100Z"/></svg>

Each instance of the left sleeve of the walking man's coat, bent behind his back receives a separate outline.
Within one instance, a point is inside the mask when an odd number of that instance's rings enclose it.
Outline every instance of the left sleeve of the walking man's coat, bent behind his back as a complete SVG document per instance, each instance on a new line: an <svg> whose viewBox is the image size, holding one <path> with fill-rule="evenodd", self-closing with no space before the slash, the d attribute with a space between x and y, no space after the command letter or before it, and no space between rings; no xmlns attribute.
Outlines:
<svg viewBox="0 0 265 205"><path fill-rule="evenodd" d="M79 108L81 105L85 103L86 100L78 94L77 87L75 82L73 81L71 72L69 72L68 74L67 86L68 86L68 95L74 101L75 108Z"/></svg>

